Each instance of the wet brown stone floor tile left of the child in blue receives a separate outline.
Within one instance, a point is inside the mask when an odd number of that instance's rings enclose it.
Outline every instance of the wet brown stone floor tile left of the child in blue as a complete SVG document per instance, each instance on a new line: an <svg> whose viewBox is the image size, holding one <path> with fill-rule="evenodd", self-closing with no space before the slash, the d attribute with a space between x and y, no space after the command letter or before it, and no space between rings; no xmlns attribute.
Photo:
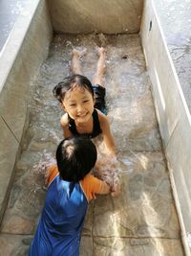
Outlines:
<svg viewBox="0 0 191 256"><path fill-rule="evenodd" d="M24 156L24 154L23 154ZM24 159L24 157L23 157ZM18 166L26 165L18 162ZM46 189L44 175L34 169L17 176L11 189L9 205L5 212L1 230L5 233L32 234L44 204Z"/></svg>

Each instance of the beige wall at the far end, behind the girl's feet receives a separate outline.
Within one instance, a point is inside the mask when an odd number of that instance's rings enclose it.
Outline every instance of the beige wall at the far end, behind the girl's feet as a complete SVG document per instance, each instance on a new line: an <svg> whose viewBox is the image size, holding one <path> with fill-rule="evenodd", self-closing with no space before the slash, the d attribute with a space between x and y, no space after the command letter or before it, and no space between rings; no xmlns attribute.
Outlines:
<svg viewBox="0 0 191 256"><path fill-rule="evenodd" d="M49 1L56 33L138 33L143 0Z"/></svg>

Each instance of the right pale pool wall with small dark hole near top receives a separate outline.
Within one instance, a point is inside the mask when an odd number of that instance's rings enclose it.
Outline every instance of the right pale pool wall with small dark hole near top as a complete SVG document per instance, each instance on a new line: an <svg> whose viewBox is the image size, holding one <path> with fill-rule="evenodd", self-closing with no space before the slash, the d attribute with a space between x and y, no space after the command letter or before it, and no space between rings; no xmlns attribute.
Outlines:
<svg viewBox="0 0 191 256"><path fill-rule="evenodd" d="M173 30L173 27L171 29ZM162 32L158 9L156 10L153 1L145 1L140 35L153 84L163 149L179 212L182 242L186 255L190 255L191 117Z"/></svg>

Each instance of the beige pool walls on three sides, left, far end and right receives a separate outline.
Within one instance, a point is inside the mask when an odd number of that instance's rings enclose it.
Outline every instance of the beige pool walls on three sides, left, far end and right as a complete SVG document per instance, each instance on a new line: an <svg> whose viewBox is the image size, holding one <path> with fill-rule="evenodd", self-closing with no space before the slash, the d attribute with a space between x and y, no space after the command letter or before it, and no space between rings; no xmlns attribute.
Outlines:
<svg viewBox="0 0 191 256"><path fill-rule="evenodd" d="M49 1L50 12L47 2L38 0L29 6L28 15L21 15L16 20L0 56L0 220L9 198L14 163L28 124L32 81L47 58L53 31L73 34L138 33L141 22L142 46L153 83L160 133L179 211L182 240L186 254L190 255L187 241L191 230L190 114L152 1L145 1L141 18L142 2L134 1L133 4L120 1L119 5L115 0L109 3L91 1L90 6L88 0L80 1L80 5L77 5L77 1L56 0Z"/></svg>

